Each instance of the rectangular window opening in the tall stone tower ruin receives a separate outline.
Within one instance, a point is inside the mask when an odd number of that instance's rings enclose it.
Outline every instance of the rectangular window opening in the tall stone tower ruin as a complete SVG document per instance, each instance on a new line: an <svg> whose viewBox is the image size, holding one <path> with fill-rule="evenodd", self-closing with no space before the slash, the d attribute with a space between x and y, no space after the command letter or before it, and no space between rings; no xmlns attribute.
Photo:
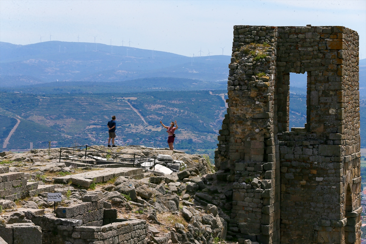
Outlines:
<svg viewBox="0 0 366 244"><path fill-rule="evenodd" d="M306 83L307 74L290 73L290 112L289 124L292 127L305 127L306 123Z"/></svg>

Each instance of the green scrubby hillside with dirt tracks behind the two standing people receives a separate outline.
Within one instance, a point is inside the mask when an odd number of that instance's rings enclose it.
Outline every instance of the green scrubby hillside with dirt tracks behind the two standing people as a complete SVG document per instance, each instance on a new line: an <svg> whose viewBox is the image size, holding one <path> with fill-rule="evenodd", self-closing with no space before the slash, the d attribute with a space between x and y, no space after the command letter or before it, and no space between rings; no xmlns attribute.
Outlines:
<svg viewBox="0 0 366 244"><path fill-rule="evenodd" d="M220 95L221 94L221 95ZM225 90L153 91L139 93L71 93L31 95L1 93L1 146L20 116L20 124L7 149L75 144L106 144L107 121L117 117L117 144L167 146L167 133L160 126L177 120L176 149L215 149L226 113ZM290 94L290 127L306 121L306 95ZM132 108L131 108L132 106ZM361 147L365 147L366 102L360 102ZM134 110L135 109L135 110ZM139 113L137 113L137 112ZM143 120L142 120L142 118ZM145 123L146 122L146 123ZM57 144L56 144L57 143Z"/></svg>

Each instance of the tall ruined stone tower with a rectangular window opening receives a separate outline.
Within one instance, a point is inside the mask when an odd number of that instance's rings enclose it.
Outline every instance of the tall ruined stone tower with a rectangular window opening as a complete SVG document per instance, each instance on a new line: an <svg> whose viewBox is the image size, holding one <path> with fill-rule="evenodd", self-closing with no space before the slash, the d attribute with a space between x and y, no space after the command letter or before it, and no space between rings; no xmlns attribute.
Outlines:
<svg viewBox="0 0 366 244"><path fill-rule="evenodd" d="M358 40L343 26L234 26L215 155L234 181L228 234L361 242ZM291 72L307 73L303 128L289 128Z"/></svg>

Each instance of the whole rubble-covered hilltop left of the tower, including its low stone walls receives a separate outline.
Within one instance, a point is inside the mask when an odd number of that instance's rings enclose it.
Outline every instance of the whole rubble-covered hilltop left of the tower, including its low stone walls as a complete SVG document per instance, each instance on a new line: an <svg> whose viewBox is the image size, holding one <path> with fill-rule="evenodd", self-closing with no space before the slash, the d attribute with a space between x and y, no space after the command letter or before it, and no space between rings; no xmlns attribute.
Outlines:
<svg viewBox="0 0 366 244"><path fill-rule="evenodd" d="M18 180L20 187L37 186L36 191L0 200L4 242L25 244L33 237L34 244L212 244L232 240L232 233L227 232L232 184L217 179L213 166L201 155L143 146L108 150L155 157L164 168L99 168L73 160L60 162L57 149L3 153L1 179L10 181L12 188ZM164 173L167 169L170 172ZM55 203L47 200L48 192L61 193L56 213ZM19 231L22 239L17 237Z"/></svg>

